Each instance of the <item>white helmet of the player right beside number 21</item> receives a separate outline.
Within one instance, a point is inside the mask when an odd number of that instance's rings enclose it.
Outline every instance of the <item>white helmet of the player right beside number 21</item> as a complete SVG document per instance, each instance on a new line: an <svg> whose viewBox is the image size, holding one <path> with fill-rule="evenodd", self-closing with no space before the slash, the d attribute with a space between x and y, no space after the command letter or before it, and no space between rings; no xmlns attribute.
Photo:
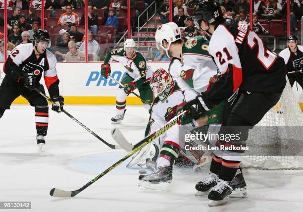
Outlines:
<svg viewBox="0 0 303 212"><path fill-rule="evenodd" d="M156 40L156 47L158 48L158 50L162 48L163 50L165 50L166 55L169 56L168 50L170 48L170 45L171 43L181 39L181 31L176 23L169 22L166 24L162 24L157 28L154 38ZM168 43L167 48L163 47L163 40L166 40L166 42Z"/></svg>

